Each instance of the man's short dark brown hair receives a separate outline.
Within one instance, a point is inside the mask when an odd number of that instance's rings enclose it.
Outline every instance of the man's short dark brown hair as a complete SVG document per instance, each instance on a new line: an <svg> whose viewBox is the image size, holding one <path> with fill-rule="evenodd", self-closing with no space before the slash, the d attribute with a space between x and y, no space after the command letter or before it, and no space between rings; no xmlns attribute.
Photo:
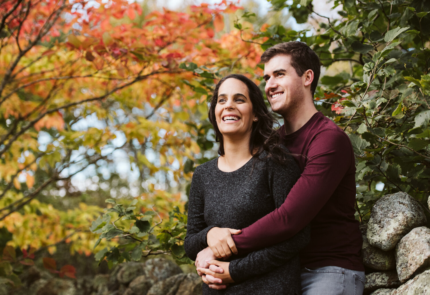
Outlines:
<svg viewBox="0 0 430 295"><path fill-rule="evenodd" d="M266 49L261 55L261 62L267 63L276 55L289 55L291 57L291 66L294 67L299 77L303 76L307 70L313 71L313 81L310 84L310 92L313 97L319 74L321 73L321 63L318 55L306 43L300 41L284 42Z"/></svg>

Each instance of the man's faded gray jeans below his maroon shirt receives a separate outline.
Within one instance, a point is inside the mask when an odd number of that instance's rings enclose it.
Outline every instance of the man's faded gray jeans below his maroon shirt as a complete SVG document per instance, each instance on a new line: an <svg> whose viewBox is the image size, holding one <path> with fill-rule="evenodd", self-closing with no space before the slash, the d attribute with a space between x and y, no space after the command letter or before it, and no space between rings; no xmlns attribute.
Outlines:
<svg viewBox="0 0 430 295"><path fill-rule="evenodd" d="M301 269L302 295L362 295L364 271L337 266Z"/></svg>

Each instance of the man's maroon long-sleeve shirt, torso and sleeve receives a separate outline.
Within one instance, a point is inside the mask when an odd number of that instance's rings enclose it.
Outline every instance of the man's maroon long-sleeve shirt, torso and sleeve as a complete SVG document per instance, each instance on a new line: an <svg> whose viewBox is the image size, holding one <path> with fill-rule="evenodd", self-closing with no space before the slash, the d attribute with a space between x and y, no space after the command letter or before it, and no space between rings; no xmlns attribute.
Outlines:
<svg viewBox="0 0 430 295"><path fill-rule="evenodd" d="M285 134L284 126L279 132ZM355 161L348 136L318 112L284 139L289 151L297 154L301 176L281 207L233 235L239 253L279 243L310 224L302 267L364 271L359 222L354 218Z"/></svg>

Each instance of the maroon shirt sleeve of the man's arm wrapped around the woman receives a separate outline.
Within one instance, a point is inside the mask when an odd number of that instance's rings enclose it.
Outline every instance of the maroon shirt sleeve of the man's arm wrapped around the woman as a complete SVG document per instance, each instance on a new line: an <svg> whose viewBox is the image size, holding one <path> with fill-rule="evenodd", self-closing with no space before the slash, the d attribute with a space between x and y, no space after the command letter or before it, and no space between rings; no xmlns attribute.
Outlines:
<svg viewBox="0 0 430 295"><path fill-rule="evenodd" d="M294 236L326 204L353 163L346 134L329 129L316 135L307 150L304 170L285 202L232 236L239 252L252 252Z"/></svg>

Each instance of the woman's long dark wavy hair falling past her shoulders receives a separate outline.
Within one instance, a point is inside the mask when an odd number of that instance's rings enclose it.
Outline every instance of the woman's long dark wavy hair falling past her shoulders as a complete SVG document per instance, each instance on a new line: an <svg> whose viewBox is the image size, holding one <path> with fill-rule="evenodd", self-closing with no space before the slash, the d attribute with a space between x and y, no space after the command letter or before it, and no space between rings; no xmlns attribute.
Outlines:
<svg viewBox="0 0 430 295"><path fill-rule="evenodd" d="M224 155L224 141L216 122L215 106L218 101L218 90L221 84L229 78L242 81L246 85L248 88L249 99L252 103L252 110L254 111L255 116L258 117L258 121L252 122L251 139L249 142L249 151L251 152L251 155L255 155L258 158L261 152L265 150L267 152L267 157L272 157L275 161L280 163L289 162L289 157L287 157L287 155L290 154L280 145L279 133L273 129L273 126L275 124L279 125L279 122L270 115L270 112L264 103L263 94L261 94L260 88L258 88L258 86L249 78L239 74L230 74L219 80L215 86L210 101L208 116L209 121L214 127L215 140L219 142L218 154L221 156Z"/></svg>

